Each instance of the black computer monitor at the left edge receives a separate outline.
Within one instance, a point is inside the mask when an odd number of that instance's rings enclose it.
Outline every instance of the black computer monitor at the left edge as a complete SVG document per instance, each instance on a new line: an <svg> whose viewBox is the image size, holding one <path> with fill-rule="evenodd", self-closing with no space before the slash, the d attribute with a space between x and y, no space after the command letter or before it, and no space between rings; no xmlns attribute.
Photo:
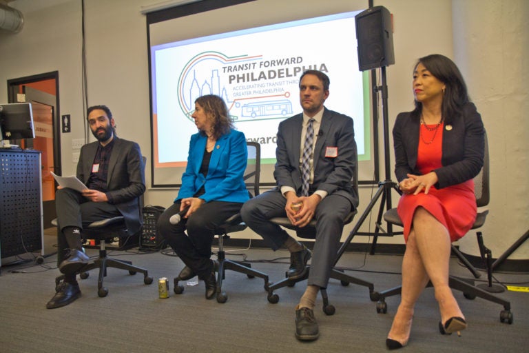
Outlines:
<svg viewBox="0 0 529 353"><path fill-rule="evenodd" d="M0 104L2 140L34 139L31 103Z"/></svg>

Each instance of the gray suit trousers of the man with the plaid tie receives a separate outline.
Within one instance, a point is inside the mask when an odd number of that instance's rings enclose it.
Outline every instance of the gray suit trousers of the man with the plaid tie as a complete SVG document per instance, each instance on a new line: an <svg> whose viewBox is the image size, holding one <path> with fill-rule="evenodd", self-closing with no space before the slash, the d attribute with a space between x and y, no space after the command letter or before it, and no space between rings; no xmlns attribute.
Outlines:
<svg viewBox="0 0 529 353"><path fill-rule="evenodd" d="M264 192L250 199L242 206L240 214L251 230L262 236L273 250L278 250L289 234L269 219L286 217L284 210L287 199L276 191ZM351 212L351 202L340 195L327 195L316 208L316 240L311 260L308 285L326 288L331 276L332 265L340 248L344 219Z"/></svg>

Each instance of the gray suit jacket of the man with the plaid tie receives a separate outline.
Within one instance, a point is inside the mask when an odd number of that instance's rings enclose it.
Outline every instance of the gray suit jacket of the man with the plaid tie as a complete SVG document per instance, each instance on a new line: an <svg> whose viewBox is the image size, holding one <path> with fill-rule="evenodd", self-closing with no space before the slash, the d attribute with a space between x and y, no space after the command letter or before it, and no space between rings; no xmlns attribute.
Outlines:
<svg viewBox="0 0 529 353"><path fill-rule="evenodd" d="M278 129L276 168L273 172L278 189L290 186L300 194L300 146L303 114L282 121ZM328 194L340 194L358 205L357 191L352 181L357 168L357 150L353 119L324 108L320 131L314 148L313 187ZM326 148L338 148L337 157L325 157Z"/></svg>

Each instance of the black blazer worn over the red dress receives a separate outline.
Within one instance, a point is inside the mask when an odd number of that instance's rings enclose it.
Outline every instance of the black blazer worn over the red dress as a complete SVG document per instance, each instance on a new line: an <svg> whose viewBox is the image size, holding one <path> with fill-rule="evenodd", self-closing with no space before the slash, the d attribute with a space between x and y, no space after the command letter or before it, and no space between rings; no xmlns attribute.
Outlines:
<svg viewBox="0 0 529 353"><path fill-rule="evenodd" d="M419 128L419 118L411 117L411 112L397 115L393 127L393 145L395 175L399 182L407 178L407 173L421 174L417 170ZM475 105L466 103L461 116L444 126L441 160L443 166L433 170L439 179L435 188L463 183L479 173L484 159L484 132L483 121Z"/></svg>

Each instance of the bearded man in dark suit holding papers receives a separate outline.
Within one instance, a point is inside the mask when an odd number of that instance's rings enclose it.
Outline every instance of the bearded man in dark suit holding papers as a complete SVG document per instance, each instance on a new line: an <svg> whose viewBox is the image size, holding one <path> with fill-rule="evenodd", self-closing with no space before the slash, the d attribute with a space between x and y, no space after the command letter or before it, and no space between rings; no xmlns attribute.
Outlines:
<svg viewBox="0 0 529 353"><path fill-rule="evenodd" d="M116 136L116 123L105 105L88 108L87 121L97 139L83 145L77 163L77 178L87 190L59 188L55 194L57 263L65 278L48 309L81 296L76 274L90 262L81 245L83 225L123 216L127 232L135 234L143 223L139 197L145 192L145 165L140 146Z"/></svg>

